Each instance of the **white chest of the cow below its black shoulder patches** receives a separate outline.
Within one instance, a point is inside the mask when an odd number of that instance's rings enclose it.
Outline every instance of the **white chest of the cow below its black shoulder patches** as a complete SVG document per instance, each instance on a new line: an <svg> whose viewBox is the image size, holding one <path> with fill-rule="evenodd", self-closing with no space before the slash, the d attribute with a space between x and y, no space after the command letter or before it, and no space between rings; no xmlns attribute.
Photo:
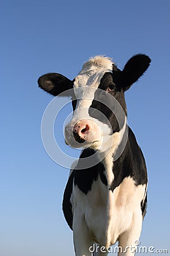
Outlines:
<svg viewBox="0 0 170 256"><path fill-rule="evenodd" d="M109 247L121 238L122 234L127 233L127 237L123 237L125 241L121 240L121 244L130 246L126 241L128 237L132 237L130 242L133 245L141 233L141 201L145 188L146 185L136 186L131 177L125 177L113 192L101 182L100 177L92 184L92 189L87 195L75 185L71 204L76 236L83 233L83 230L76 226L76 221L79 223L81 220L91 241Z"/></svg>

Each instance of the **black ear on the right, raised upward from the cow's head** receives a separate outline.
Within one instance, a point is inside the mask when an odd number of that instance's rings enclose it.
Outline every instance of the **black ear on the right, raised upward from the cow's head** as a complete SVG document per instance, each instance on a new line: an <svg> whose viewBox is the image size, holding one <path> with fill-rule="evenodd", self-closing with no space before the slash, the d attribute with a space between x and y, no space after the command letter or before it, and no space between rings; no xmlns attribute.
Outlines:
<svg viewBox="0 0 170 256"><path fill-rule="evenodd" d="M145 54L137 54L131 57L121 72L121 87L124 90L128 90L145 73L150 63L150 57Z"/></svg>

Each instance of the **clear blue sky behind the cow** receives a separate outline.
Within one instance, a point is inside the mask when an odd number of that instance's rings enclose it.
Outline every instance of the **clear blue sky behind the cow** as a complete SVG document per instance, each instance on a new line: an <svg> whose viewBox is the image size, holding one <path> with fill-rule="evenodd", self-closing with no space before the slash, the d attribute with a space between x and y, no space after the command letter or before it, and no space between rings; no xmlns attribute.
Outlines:
<svg viewBox="0 0 170 256"><path fill-rule="evenodd" d="M126 103L149 177L141 245L168 249L169 13L168 0L2 1L1 256L74 255L62 214L69 170L42 145L41 118L53 97L37 79L47 72L73 79L99 54L113 57L119 68L135 53L152 59L126 92Z"/></svg>

